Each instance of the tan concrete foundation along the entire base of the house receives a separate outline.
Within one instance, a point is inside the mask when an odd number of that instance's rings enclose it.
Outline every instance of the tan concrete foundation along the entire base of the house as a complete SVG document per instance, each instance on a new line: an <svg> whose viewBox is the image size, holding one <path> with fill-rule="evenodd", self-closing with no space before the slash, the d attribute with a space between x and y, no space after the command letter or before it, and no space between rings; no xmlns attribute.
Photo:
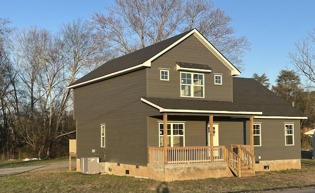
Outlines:
<svg viewBox="0 0 315 193"><path fill-rule="evenodd" d="M301 169L301 160L269 160L259 161L259 164L255 164L256 171L285 169ZM80 159L77 159L77 171L80 171ZM99 172L102 174L149 178L164 182L234 176L226 162L182 165L148 164L148 166L100 162Z"/></svg>

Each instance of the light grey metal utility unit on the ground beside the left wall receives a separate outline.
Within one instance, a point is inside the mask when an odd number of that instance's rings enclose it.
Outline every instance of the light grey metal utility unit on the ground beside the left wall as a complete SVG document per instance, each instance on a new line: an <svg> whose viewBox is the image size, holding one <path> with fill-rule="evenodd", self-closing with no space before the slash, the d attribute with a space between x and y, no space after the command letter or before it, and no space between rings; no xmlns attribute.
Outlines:
<svg viewBox="0 0 315 193"><path fill-rule="evenodd" d="M98 174L99 173L99 158L98 157L81 157L81 173Z"/></svg>

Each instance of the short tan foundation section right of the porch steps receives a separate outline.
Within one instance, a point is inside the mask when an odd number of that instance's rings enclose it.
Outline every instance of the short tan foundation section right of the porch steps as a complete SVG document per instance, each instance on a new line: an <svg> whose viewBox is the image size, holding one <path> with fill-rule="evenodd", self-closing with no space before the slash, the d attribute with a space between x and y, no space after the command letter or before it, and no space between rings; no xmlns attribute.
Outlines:
<svg viewBox="0 0 315 193"><path fill-rule="evenodd" d="M301 159L266 160L255 165L256 171L275 171L285 169L301 169Z"/></svg>

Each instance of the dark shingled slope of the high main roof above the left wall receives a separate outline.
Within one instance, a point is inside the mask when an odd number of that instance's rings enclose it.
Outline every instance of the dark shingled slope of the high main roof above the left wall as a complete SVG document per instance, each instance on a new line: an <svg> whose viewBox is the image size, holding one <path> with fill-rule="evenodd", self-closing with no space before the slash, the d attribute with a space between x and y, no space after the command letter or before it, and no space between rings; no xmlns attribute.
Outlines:
<svg viewBox="0 0 315 193"><path fill-rule="evenodd" d="M152 58L153 56L157 55L160 51L171 46L173 43L175 43L176 41L178 41L179 39L187 35L190 31L191 30L181 33L167 40L161 41L157 44L136 50L129 54L123 55L119 58L110 60L106 62L105 64L101 65L100 67L98 67L97 69L95 69L94 71L88 73L82 78L71 83L69 86L80 84L80 83L93 80L95 78L98 78L107 74L111 74L113 72L122 71L128 68L137 66L139 64L142 64L145 61Z"/></svg>

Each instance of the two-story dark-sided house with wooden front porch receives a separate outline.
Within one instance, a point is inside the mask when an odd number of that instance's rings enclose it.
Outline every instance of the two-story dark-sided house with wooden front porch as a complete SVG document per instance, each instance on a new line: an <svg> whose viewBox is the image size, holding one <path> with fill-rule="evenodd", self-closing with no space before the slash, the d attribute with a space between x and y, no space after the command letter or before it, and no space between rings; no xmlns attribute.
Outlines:
<svg viewBox="0 0 315 193"><path fill-rule="evenodd" d="M300 169L306 116L239 74L196 29L106 62L69 85L77 160L162 181Z"/></svg>

